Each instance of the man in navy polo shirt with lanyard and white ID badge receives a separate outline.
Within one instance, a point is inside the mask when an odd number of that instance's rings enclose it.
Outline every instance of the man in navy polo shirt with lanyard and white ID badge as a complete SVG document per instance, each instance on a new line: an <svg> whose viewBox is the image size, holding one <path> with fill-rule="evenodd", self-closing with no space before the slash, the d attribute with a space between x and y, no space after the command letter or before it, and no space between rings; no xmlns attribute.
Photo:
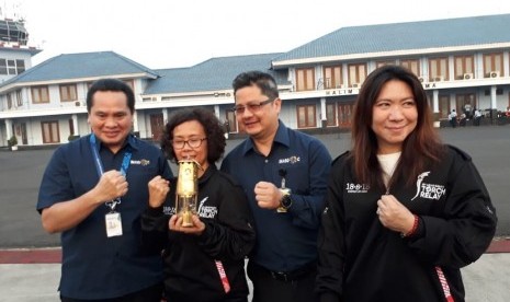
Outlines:
<svg viewBox="0 0 510 302"><path fill-rule="evenodd" d="M39 188L43 228L61 232L60 299L160 301L162 264L140 245L148 183L170 166L155 146L132 133L135 96L114 79L87 94L92 133L59 147Z"/></svg>

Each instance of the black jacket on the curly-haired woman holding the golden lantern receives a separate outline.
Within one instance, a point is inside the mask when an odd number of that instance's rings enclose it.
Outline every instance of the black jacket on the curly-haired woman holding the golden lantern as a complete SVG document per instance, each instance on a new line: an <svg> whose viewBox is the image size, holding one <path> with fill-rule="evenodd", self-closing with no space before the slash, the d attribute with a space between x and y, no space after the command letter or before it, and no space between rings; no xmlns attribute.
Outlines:
<svg viewBox="0 0 510 302"><path fill-rule="evenodd" d="M175 184L163 207L141 217L143 243L152 252L163 249L168 301L246 301L245 257L254 244L252 216L240 186L211 165L199 178L199 216L205 223L200 235L172 232L168 221L175 212ZM225 293L215 260L222 262L230 291Z"/></svg>

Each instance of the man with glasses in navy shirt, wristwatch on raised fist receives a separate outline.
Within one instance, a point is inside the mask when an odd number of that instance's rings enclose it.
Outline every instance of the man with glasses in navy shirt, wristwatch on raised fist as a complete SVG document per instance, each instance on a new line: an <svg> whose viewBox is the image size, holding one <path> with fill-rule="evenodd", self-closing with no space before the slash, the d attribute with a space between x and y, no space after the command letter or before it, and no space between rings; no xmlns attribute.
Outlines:
<svg viewBox="0 0 510 302"><path fill-rule="evenodd" d="M243 187L256 221L248 264L253 301L318 301L317 232L331 156L318 139L280 120L273 77L243 72L233 86L233 111L249 138L230 151L222 170Z"/></svg>

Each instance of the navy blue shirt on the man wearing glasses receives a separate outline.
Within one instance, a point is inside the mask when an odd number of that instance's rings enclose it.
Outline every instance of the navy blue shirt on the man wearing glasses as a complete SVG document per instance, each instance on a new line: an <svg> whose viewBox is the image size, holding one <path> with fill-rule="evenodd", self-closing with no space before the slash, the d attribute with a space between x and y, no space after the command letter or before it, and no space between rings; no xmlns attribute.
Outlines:
<svg viewBox="0 0 510 302"><path fill-rule="evenodd" d="M275 271L292 271L317 259L317 233L325 207L331 156L316 138L290 129L280 121L268 156L251 138L225 158L222 170L243 187L256 220L257 244L250 260ZM291 188L293 204L286 213L262 209L254 198L258 182Z"/></svg>

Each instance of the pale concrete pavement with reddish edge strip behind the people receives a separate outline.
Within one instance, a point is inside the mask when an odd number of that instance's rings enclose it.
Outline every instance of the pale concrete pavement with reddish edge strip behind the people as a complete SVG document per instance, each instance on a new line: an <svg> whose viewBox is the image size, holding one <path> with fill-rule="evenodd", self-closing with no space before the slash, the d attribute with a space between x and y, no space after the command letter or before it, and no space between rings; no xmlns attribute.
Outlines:
<svg viewBox="0 0 510 302"><path fill-rule="evenodd" d="M0 301L59 301L59 248L0 251ZM510 239L494 241L486 254L462 269L462 275L466 301L509 301Z"/></svg>

